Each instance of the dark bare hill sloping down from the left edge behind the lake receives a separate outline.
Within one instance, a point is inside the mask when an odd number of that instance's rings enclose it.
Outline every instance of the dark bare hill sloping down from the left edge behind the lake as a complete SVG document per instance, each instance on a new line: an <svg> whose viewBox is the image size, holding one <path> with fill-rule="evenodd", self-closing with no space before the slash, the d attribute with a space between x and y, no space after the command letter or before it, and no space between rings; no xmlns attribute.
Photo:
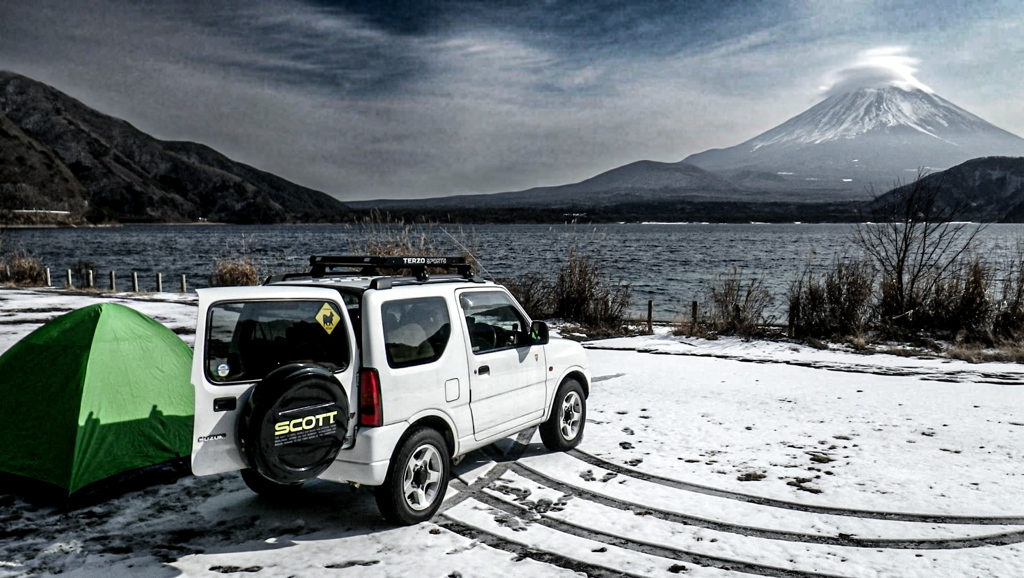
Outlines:
<svg viewBox="0 0 1024 578"><path fill-rule="evenodd" d="M155 138L59 90L0 71L0 209L67 210L93 222L339 220L336 199Z"/></svg>

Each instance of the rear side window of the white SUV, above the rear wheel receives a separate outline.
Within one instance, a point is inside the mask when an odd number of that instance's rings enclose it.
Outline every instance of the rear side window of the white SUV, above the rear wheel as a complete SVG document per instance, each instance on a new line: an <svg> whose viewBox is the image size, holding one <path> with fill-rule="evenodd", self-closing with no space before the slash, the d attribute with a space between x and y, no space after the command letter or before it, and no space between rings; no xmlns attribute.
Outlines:
<svg viewBox="0 0 1024 578"><path fill-rule="evenodd" d="M441 297L401 299L381 305L384 349L393 368L440 359L452 335L447 303Z"/></svg>

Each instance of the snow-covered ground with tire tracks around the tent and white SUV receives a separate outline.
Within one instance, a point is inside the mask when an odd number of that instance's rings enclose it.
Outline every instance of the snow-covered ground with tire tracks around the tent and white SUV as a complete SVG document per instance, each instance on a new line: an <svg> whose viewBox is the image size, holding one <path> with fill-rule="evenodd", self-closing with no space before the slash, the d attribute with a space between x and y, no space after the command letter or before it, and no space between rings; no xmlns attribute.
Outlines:
<svg viewBox="0 0 1024 578"><path fill-rule="evenodd" d="M118 300L183 338L195 304ZM97 297L0 290L0 350ZM590 344L586 439L475 452L433 522L237 474L61 514L0 494L0 575L1021 576L1024 366L672 337Z"/></svg>

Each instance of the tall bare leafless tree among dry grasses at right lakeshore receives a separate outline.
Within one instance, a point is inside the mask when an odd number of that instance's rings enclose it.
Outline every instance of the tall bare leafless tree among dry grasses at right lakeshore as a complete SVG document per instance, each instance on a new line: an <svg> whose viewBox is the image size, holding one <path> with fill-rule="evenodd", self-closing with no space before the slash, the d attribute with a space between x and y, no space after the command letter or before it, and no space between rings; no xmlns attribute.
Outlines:
<svg viewBox="0 0 1024 578"><path fill-rule="evenodd" d="M857 225L853 241L881 274L879 315L884 327L912 327L921 307L952 267L968 253L981 225L961 220L968 205L943 199L942 175L923 170L872 203L877 222Z"/></svg>

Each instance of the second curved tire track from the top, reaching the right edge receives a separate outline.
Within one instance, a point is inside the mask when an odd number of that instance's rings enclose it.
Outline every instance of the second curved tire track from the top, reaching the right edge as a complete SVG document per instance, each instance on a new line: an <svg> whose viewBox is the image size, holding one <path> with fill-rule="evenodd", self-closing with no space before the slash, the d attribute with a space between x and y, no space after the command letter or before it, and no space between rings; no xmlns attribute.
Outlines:
<svg viewBox="0 0 1024 578"><path fill-rule="evenodd" d="M685 513L668 511L668 510L652 508L650 506L636 504L633 502L628 502L625 500L621 500L618 498L613 498L610 496L605 496L603 494L598 494L596 492L580 488L579 486L565 484L559 480L556 480L536 469L532 469L528 465L522 463L514 464L511 467L511 470L546 488L556 490L558 492L561 492L569 496L580 497L585 500L601 504L603 506L615 508L618 510L630 511L637 515L650 515L651 518L656 518L658 520L664 520L666 522L672 522L683 526L706 528L708 530L715 530L718 532L739 534L741 536L751 536L754 538L764 538L768 540L778 540L785 542L806 542L813 544L825 544L830 546L849 546L855 548L913 549L913 550L926 550L926 549L949 550L949 549L963 549L963 548L977 548L982 546L993 546L993 545L1005 546L1009 544L1017 544L1020 542L1024 542L1024 531L1007 532L1001 534L989 534L985 536L972 536L969 538L893 540L884 538L857 538L853 536L845 537L842 535L824 536L820 534L801 534L798 532L787 532L784 530L768 530L753 526L739 526L736 524L729 524L726 522L717 522L714 520L708 520L695 515L687 515ZM477 500L483 501L479 495L476 495L474 497Z"/></svg>

